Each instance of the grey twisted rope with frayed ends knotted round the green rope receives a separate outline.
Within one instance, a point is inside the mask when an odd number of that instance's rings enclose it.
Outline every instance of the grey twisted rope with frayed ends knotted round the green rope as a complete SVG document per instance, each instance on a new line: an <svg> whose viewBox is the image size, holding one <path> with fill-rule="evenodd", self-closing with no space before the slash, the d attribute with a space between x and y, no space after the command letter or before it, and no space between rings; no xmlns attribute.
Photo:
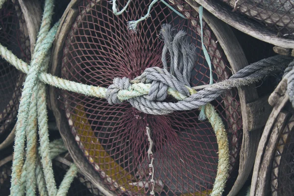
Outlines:
<svg viewBox="0 0 294 196"><path fill-rule="evenodd" d="M121 103L117 97L119 91L129 89L132 83L142 82L151 83L148 95L127 99L138 110L147 114L164 115L173 111L196 109L216 99L228 89L249 85L272 72L283 71L293 60L292 57L282 55L260 60L246 66L229 79L209 85L193 94L189 80L197 59L196 47L188 43L184 31L175 33L171 25L163 25L160 36L164 40L163 69L147 68L132 81L128 78L115 78L106 91L109 104ZM168 54L171 59L170 72L168 72ZM177 90L185 98L178 102L159 102L167 97L168 87Z"/></svg>

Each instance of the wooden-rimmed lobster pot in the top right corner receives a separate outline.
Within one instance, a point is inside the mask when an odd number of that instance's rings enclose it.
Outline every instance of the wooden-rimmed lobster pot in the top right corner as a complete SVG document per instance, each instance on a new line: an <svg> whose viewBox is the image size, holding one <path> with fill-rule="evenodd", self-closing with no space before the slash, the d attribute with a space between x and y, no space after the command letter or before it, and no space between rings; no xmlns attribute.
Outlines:
<svg viewBox="0 0 294 196"><path fill-rule="evenodd" d="M293 0L186 0L264 42L294 49ZM199 3L199 4L198 4Z"/></svg>

